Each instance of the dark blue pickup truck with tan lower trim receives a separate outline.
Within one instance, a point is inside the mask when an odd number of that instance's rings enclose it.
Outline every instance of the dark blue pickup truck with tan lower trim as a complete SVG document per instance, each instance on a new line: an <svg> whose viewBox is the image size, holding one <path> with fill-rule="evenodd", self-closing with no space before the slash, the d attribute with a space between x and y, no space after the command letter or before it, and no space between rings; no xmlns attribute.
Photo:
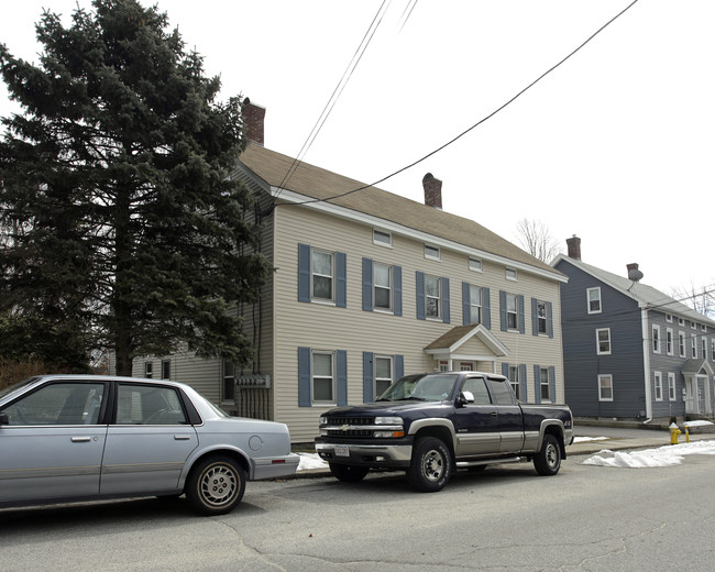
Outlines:
<svg viewBox="0 0 715 572"><path fill-rule="evenodd" d="M503 375L439 372L402 377L374 404L329 410L316 451L341 481L399 469L414 488L436 492L454 470L493 463L534 461L554 475L572 442L568 406L519 403Z"/></svg>

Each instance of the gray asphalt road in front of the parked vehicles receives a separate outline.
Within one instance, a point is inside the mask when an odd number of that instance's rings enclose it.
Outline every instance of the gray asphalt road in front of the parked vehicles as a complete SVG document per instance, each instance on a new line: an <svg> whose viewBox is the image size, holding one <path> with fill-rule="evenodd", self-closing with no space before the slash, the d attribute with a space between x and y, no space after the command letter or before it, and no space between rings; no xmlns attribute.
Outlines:
<svg viewBox="0 0 715 572"><path fill-rule="evenodd" d="M223 517L183 499L0 510L0 569L30 571L712 570L715 459L606 469L570 457L459 473L437 494L398 473L249 483Z"/></svg>

